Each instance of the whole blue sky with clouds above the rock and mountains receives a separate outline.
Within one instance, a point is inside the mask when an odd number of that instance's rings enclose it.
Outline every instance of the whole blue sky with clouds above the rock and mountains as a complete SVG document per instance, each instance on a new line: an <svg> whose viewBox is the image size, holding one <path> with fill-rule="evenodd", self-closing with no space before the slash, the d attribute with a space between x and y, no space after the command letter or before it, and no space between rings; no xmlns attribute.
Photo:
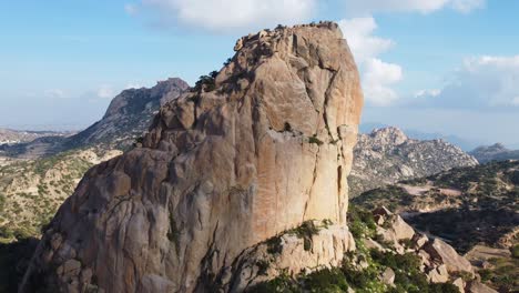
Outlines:
<svg viewBox="0 0 519 293"><path fill-rule="evenodd" d="M235 40L335 20L364 122L519 146L519 1L0 0L0 127L81 129L130 87L220 69Z"/></svg>

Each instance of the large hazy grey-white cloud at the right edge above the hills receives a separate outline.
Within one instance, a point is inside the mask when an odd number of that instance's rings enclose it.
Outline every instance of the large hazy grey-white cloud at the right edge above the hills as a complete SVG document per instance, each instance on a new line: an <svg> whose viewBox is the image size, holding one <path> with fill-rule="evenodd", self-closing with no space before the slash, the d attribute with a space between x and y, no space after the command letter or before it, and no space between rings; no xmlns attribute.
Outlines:
<svg viewBox="0 0 519 293"><path fill-rule="evenodd" d="M464 109L518 109L519 55L465 60L431 105Z"/></svg>

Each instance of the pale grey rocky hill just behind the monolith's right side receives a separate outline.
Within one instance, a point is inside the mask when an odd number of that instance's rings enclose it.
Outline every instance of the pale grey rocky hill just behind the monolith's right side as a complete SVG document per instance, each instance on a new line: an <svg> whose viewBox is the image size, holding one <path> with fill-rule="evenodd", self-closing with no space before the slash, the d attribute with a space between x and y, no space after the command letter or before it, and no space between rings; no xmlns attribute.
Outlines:
<svg viewBox="0 0 519 293"><path fill-rule="evenodd" d="M442 140L409 139L397 128L359 134L354 158L348 178L352 198L401 180L478 164L475 158L458 146Z"/></svg>

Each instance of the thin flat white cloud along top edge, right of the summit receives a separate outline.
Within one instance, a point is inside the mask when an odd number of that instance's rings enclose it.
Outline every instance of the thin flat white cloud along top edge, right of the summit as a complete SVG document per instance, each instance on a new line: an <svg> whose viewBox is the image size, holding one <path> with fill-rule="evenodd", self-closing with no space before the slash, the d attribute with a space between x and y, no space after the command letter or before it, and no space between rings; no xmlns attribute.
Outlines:
<svg viewBox="0 0 519 293"><path fill-rule="evenodd" d="M468 13L485 7L486 0L345 0L352 16L366 16L376 12L420 12L430 13L444 8Z"/></svg>

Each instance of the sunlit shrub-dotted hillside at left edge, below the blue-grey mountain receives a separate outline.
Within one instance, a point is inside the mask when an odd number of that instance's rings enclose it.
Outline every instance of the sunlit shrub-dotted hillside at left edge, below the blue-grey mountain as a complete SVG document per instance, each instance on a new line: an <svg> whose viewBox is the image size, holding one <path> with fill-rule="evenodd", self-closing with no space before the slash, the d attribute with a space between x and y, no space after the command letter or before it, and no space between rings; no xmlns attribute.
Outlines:
<svg viewBox="0 0 519 293"><path fill-rule="evenodd" d="M120 153L77 150L0 166L0 242L38 238L84 172Z"/></svg>

